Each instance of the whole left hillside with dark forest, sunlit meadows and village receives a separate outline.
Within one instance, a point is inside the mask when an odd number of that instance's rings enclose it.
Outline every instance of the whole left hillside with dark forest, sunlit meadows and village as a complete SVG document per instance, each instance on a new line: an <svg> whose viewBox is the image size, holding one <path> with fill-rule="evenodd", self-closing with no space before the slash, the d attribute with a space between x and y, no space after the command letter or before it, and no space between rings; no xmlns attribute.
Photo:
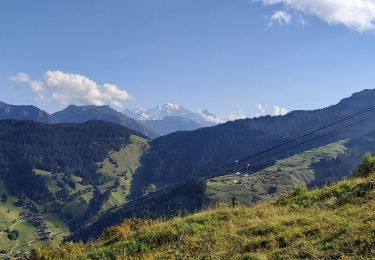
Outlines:
<svg viewBox="0 0 375 260"><path fill-rule="evenodd" d="M148 149L148 140L136 132L106 122L0 121L0 140L1 253L58 245L84 223L125 204Z"/></svg>

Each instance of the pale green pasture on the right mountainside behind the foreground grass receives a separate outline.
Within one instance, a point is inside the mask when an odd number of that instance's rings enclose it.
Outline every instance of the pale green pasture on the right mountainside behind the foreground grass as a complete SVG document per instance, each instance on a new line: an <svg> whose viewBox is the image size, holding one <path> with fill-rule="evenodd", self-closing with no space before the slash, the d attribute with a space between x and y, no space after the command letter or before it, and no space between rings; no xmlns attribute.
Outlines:
<svg viewBox="0 0 375 260"><path fill-rule="evenodd" d="M302 152L249 177L226 175L211 179L206 185L206 196L212 202L226 203L235 196L241 204L250 205L269 198L270 188L276 188L272 192L275 195L286 194L311 183L315 177L311 164L345 153L345 144L343 140Z"/></svg>

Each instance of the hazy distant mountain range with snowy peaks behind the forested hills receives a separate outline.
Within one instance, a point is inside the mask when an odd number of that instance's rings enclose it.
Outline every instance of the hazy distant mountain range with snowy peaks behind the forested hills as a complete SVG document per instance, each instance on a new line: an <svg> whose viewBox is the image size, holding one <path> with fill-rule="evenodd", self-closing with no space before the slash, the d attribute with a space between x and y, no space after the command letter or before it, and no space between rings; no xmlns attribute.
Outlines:
<svg viewBox="0 0 375 260"><path fill-rule="evenodd" d="M83 123L104 120L119 124L153 139L177 131L192 131L215 125L216 116L207 110L194 113L180 105L166 104L152 109L125 110L109 106L70 105L53 114L35 106L16 106L0 102L0 119L33 120L42 123Z"/></svg>

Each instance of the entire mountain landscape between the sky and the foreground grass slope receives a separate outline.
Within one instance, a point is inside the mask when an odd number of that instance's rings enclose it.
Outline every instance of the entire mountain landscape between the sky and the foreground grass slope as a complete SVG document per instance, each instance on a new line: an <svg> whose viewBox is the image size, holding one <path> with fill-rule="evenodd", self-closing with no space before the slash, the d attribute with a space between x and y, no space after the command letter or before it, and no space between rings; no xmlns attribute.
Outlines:
<svg viewBox="0 0 375 260"><path fill-rule="evenodd" d="M68 235L86 240L124 218L174 216L234 197L251 205L301 185L340 180L363 154L375 152L374 105L375 90L364 90L323 109L147 139L145 133L156 128L152 124L191 119L164 115L137 121L106 106L69 106L48 115L2 103L1 118L20 120L0 121L0 188L6 198L0 202L6 220L0 228L19 220L21 240L0 237L0 245L58 243ZM341 130L332 131L336 128ZM258 154L288 142L298 145ZM248 168L245 162L251 162ZM31 236L36 219L45 225L34 226L40 234Z"/></svg>

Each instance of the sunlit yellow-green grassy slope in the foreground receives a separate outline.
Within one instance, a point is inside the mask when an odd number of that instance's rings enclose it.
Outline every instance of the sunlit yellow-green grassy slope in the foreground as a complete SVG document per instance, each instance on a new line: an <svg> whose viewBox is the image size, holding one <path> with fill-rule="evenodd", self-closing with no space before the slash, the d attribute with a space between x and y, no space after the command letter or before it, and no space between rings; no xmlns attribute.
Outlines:
<svg viewBox="0 0 375 260"><path fill-rule="evenodd" d="M89 244L40 248L35 259L371 258L375 175L297 189L250 208L216 208L171 220L127 220Z"/></svg>

